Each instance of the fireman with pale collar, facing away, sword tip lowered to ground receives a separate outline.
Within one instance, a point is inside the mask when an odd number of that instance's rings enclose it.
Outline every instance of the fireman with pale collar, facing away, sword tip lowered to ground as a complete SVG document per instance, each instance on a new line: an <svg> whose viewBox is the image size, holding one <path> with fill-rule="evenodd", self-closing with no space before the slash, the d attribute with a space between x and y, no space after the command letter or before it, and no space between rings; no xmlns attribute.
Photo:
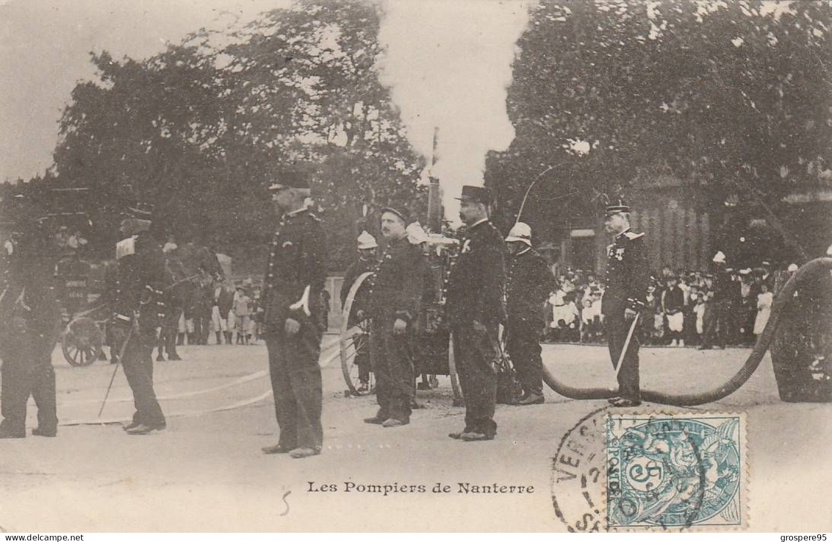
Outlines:
<svg viewBox="0 0 832 542"><path fill-rule="evenodd" d="M163 318L163 293L167 275L161 244L148 231L153 219L151 204L127 207L119 230L124 239L116 244L116 266L106 277L102 301L112 313L111 352L120 358L133 392L136 412L124 426L130 435L161 431L166 420L153 390L153 347Z"/></svg>

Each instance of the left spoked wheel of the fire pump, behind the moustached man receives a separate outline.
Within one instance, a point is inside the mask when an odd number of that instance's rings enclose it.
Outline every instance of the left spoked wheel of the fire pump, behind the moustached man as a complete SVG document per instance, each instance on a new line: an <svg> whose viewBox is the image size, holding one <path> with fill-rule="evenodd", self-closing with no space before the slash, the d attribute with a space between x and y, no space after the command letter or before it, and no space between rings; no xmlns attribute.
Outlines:
<svg viewBox="0 0 832 542"><path fill-rule="evenodd" d="M375 379L372 368L369 367L369 325L370 319L358 320L355 317L353 305L355 296L359 293L364 282L373 273L363 273L350 286L346 301L344 302L344 318L341 322L340 354L341 371L344 372L344 381L347 382L347 393L350 395L365 395L372 391L375 386ZM365 369L365 377L368 382L360 382L359 372Z"/></svg>

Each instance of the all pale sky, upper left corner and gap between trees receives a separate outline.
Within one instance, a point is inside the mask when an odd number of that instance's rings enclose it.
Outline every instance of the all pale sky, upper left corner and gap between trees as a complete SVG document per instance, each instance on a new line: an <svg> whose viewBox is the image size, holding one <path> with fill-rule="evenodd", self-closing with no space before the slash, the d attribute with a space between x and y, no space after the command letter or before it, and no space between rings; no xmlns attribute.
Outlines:
<svg viewBox="0 0 832 542"><path fill-rule="evenodd" d="M514 137L506 114L523 0L382 0L382 81L408 137L428 160L439 128L446 216L463 184L482 185L488 150ZM0 0L0 181L52 164L58 121L77 81L92 79L89 52L140 59L200 27L248 22L290 0ZM475 7L475 8L474 8Z"/></svg>

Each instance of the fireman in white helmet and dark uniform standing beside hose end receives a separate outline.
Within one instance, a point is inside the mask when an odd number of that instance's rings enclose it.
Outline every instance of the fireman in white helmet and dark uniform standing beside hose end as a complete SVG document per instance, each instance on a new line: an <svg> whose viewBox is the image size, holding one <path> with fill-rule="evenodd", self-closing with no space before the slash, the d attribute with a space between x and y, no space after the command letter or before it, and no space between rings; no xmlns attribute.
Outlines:
<svg viewBox="0 0 832 542"><path fill-rule="evenodd" d="M544 303L552 290L554 277L540 254L532 249L532 229L528 224L514 224L506 245L508 260L506 284L506 350L522 386L516 405L543 402L543 363L540 336L546 326Z"/></svg>

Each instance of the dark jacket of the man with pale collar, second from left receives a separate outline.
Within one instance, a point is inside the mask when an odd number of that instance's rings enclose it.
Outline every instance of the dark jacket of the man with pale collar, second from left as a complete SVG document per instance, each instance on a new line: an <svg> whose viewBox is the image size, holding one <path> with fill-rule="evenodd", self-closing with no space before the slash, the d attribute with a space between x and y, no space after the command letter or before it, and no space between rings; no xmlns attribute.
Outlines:
<svg viewBox="0 0 832 542"><path fill-rule="evenodd" d="M105 278L102 300L116 326L129 326L136 315L141 333L154 334L165 318L163 298L169 282L165 256L159 242L146 232L133 236L133 247L131 254L116 260L115 269Z"/></svg>

